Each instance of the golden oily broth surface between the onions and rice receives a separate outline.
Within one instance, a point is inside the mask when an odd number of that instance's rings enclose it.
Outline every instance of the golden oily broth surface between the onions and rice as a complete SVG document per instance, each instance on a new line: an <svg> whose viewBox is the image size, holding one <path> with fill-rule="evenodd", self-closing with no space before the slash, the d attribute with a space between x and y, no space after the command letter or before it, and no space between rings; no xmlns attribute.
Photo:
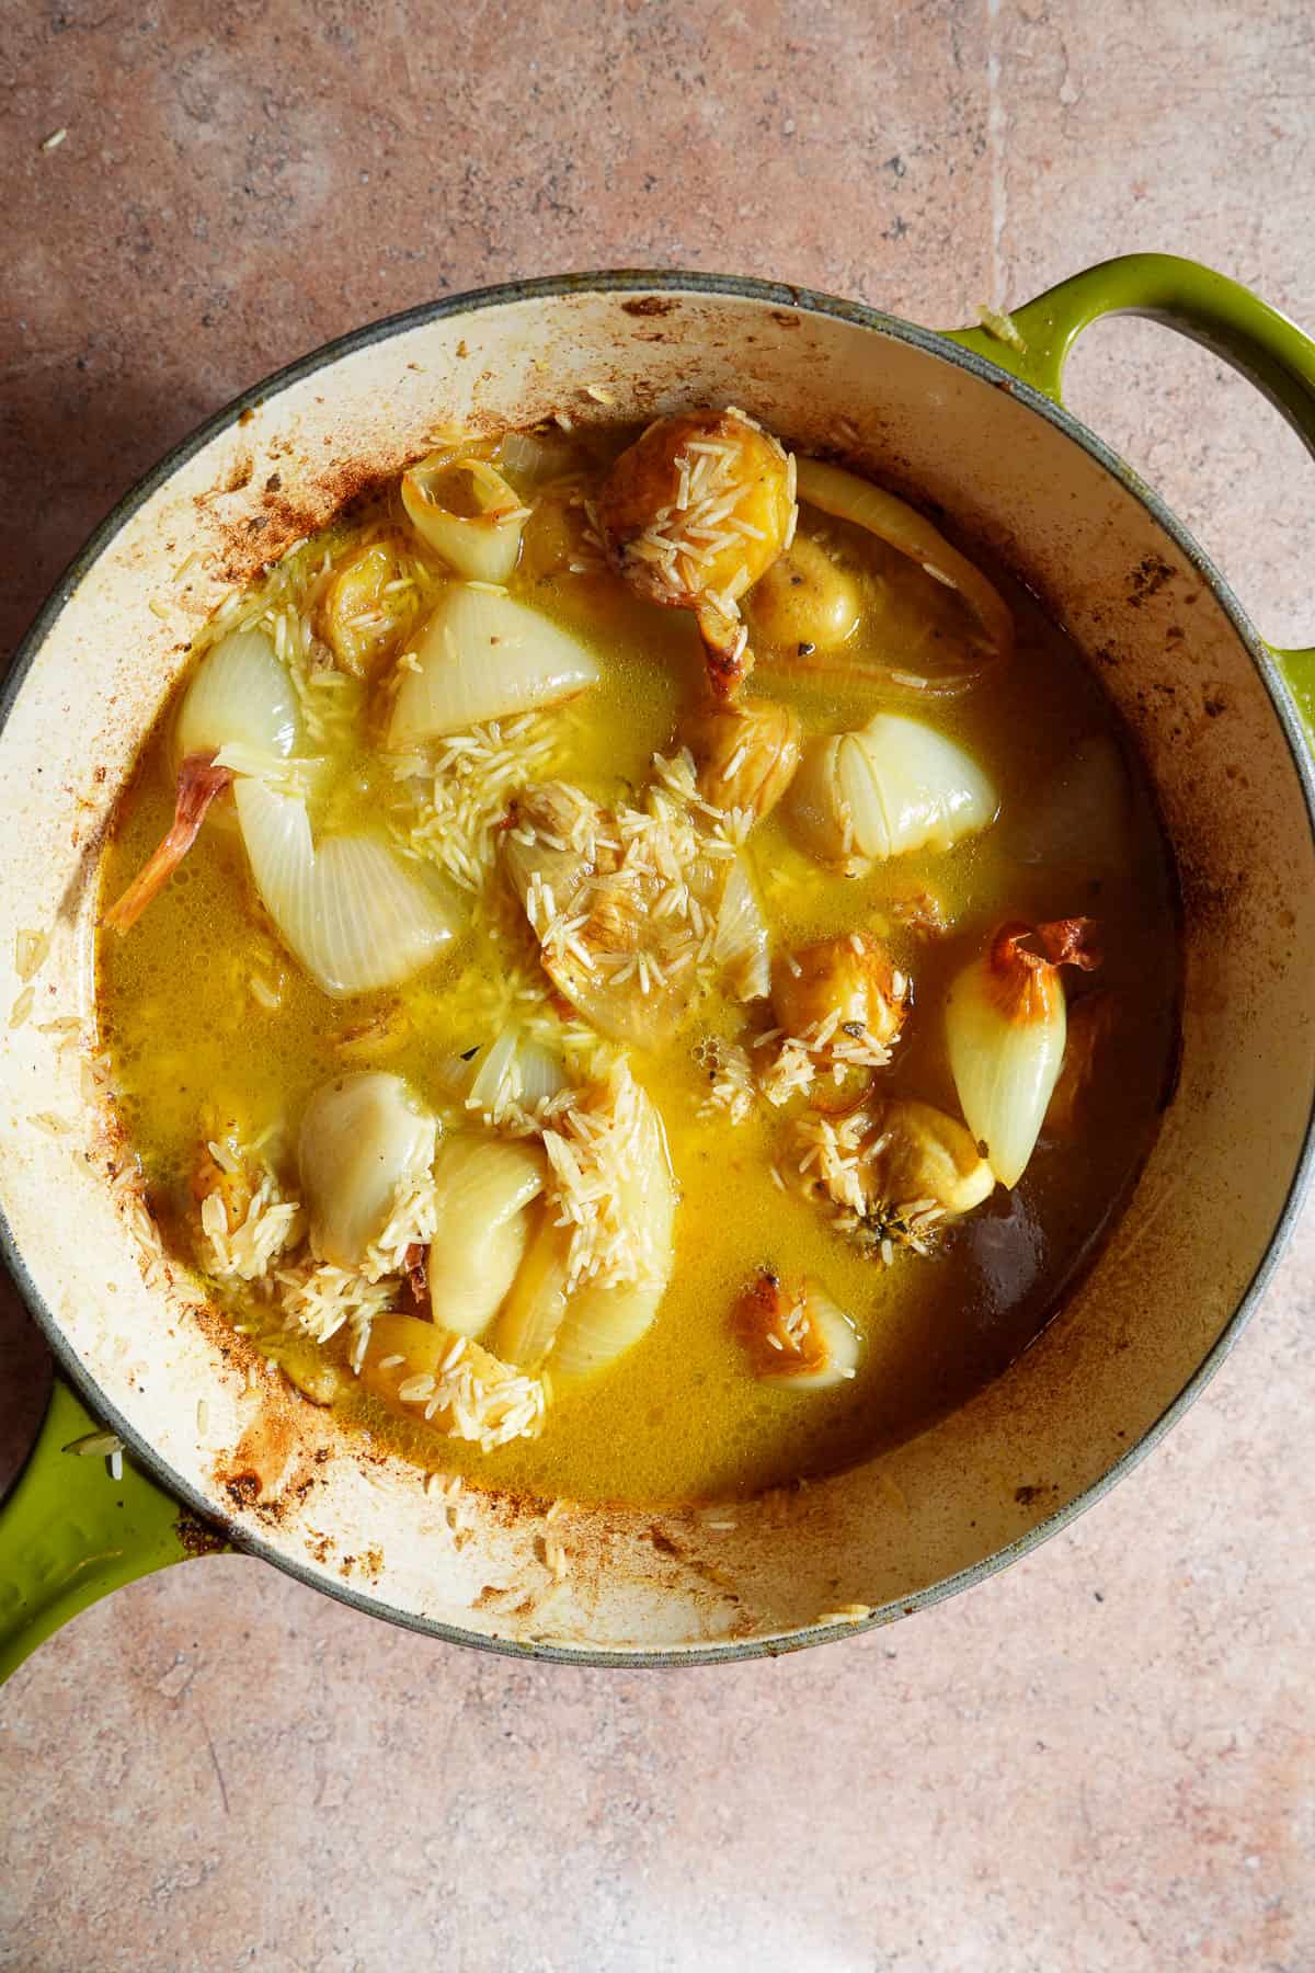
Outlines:
<svg viewBox="0 0 1315 1973"><path fill-rule="evenodd" d="M597 458L597 450L593 450ZM369 513L357 525L369 525ZM804 509L800 529L862 564L864 545L842 523ZM867 566L873 566L869 560ZM877 558L879 566L879 558ZM743 1008L704 996L690 1022L635 1073L660 1109L678 1186L674 1275L649 1334L605 1375L562 1395L538 1438L493 1452L438 1436L398 1417L365 1387L345 1383L343 1411L361 1428L444 1470L487 1486L568 1498L727 1498L852 1464L909 1436L996 1377L1039 1332L1065 1286L1090 1259L1149 1148L1175 1044L1177 941L1173 878L1140 769L1124 750L1124 858L1098 876L1080 844L1057 860L1037 854L1033 823L1045 791L1086 744L1122 750L1114 718L1074 647L1033 600L992 572L1015 612L1007 665L960 698L929 706L871 679L798 675L763 663L751 693L787 698L806 732L862 724L873 710L931 718L980 762L1000 791L1000 821L948 854L895 856L860 878L822 870L793 840L781 811L751 837L773 947L875 931L913 981L913 1012L879 1071L883 1091L958 1115L940 1006L952 977L1000 919L1041 921L1088 913L1100 921L1100 985L1118 1018L1102 1054L1076 1140L1043 1134L1013 1192L992 1200L931 1259L897 1253L883 1267L830 1229L793 1178L796 1150L783 1119L761 1107L739 1125L700 1115L710 1071L698 1060L708 1032L731 1032ZM603 659L603 681L550 714L562 742L554 769L601 801L639 789L655 752L670 748L682 710L700 694L702 651L684 612L641 602L611 576L538 578L517 572L520 596ZM862 633L860 633L862 637ZM172 817L170 718L142 754L104 860L104 896L116 896ZM377 756L343 752L327 805L343 827L386 807ZM1041 827L1041 825L1037 825ZM1063 844L1061 844L1063 848ZM901 906L934 894L952 931L921 937ZM128 1134L142 1154L156 1215L170 1243L193 1257L191 1170L205 1117L237 1119L248 1140L268 1133L274 1158L292 1156L311 1091L345 1065L382 1065L438 1101L453 1056L487 1044L507 1006L515 967L532 967L532 943L513 913L495 913L442 959L386 994L329 1000L280 949L258 908L237 829L221 817L203 831L173 882L126 939L103 937L103 1040ZM276 988L276 1006L250 981ZM400 1002L404 1026L379 1052L343 1056L343 1036ZM818 1277L858 1322L858 1375L836 1389L777 1387L749 1373L729 1312L753 1275ZM262 1324L254 1324L258 1330ZM313 1346L272 1334L274 1353ZM345 1340L323 1346L339 1363Z"/></svg>

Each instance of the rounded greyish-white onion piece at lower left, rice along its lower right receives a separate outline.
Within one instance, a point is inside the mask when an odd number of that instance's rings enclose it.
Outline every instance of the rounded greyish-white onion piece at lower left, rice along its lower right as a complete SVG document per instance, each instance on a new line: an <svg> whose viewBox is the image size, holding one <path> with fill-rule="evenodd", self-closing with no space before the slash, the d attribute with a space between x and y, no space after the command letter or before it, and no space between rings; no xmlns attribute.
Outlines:
<svg viewBox="0 0 1315 1973"><path fill-rule="evenodd" d="M302 1115L298 1164L311 1249L359 1267L398 1188L434 1162L438 1121L400 1075L361 1069L321 1083Z"/></svg>

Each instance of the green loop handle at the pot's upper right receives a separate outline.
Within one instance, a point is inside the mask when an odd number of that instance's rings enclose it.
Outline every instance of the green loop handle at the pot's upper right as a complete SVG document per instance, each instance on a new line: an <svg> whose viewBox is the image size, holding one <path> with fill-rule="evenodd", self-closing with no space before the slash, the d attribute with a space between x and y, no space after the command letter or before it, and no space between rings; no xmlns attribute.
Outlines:
<svg viewBox="0 0 1315 1973"><path fill-rule="evenodd" d="M1232 363L1315 454L1315 341L1248 288L1197 260L1134 253L1088 266L1009 316L984 312L982 328L950 329L948 341L1063 402L1065 359L1082 329L1100 316L1149 316L1205 343ZM1315 738L1315 649L1272 657Z"/></svg>

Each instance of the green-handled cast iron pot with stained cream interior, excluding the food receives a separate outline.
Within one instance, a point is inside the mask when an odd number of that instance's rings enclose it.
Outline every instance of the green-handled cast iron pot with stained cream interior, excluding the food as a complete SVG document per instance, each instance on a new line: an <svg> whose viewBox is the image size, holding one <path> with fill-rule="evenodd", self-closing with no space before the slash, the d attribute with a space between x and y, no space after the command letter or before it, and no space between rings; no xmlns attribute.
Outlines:
<svg viewBox="0 0 1315 1973"><path fill-rule="evenodd" d="M1276 1263L1311 1156L1315 854L1303 718L1315 653L1272 651L1179 521L1061 406L1088 322L1167 322L1315 444L1315 345L1244 288L1138 255L988 329L936 335L755 280L586 274L377 324L213 418L99 529L10 673L0 730L0 965L53 927L0 1069L8 1265L57 1359L0 1515L0 1671L132 1576L237 1547L463 1644L591 1663L793 1649L913 1612L1023 1555L1126 1474L1203 1389ZM603 412L589 387L603 385ZM242 1355L150 1237L93 1038L97 844L134 752L225 588L436 426L558 406L653 416L733 401L802 450L950 513L1098 661L1155 783L1183 894L1183 1061L1136 1196L1045 1336L972 1403L796 1511L572 1507L420 1474ZM181 566L181 574L179 574ZM18 977L8 1000L20 992ZM8 1004L8 1002L6 1002ZM108 1426L120 1478L67 1448ZM720 1517L726 1523L727 1517Z"/></svg>

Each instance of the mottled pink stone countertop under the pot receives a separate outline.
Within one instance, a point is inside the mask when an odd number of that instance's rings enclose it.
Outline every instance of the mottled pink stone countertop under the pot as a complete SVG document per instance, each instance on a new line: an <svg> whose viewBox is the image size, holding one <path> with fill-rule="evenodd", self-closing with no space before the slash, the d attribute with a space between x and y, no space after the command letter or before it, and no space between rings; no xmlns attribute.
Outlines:
<svg viewBox="0 0 1315 1973"><path fill-rule="evenodd" d="M440 292L647 262L944 326L1155 247L1315 322L1303 0L30 0L2 41L6 647L203 414ZM1126 322L1071 402L1315 633L1268 406ZM511 1665L235 1557L120 1592L0 1699L0 1967L1315 1965L1313 1296L1307 1215L1112 1498L779 1663ZM12 1308L0 1348L12 1468L43 1355Z"/></svg>

